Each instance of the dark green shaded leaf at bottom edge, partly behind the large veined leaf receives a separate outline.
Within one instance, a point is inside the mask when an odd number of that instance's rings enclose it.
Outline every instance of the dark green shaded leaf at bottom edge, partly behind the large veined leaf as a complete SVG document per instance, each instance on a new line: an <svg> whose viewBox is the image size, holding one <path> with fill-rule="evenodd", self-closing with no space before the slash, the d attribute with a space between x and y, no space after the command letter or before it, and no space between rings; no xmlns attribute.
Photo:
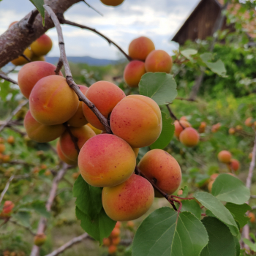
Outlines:
<svg viewBox="0 0 256 256"><path fill-rule="evenodd" d="M206 227L209 242L200 256L235 256L236 243L229 228L214 217L203 218L202 222Z"/></svg>

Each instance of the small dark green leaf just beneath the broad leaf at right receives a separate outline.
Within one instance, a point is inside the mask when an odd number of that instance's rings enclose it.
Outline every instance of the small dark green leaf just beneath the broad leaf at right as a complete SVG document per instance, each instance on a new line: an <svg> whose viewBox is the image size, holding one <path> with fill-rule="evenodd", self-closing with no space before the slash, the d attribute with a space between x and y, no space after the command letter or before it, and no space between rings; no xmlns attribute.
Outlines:
<svg viewBox="0 0 256 256"><path fill-rule="evenodd" d="M247 203L244 203L243 205L226 203L225 207L228 209L228 211L230 211L234 219L239 223L240 227L244 227L244 225L246 225L246 223L249 221L249 218L246 217L244 214L246 213L246 211L252 210L252 208L248 206Z"/></svg>

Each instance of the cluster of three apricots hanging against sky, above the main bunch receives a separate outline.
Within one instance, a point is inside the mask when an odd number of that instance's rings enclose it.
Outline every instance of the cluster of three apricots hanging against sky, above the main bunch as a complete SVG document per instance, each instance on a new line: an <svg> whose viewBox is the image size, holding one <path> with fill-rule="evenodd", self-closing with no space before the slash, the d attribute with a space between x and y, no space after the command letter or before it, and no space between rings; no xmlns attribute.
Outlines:
<svg viewBox="0 0 256 256"><path fill-rule="evenodd" d="M170 73L173 59L165 50L155 50L154 42L148 37L138 37L129 44L132 61L124 69L124 81L130 87L138 87L146 72Z"/></svg>

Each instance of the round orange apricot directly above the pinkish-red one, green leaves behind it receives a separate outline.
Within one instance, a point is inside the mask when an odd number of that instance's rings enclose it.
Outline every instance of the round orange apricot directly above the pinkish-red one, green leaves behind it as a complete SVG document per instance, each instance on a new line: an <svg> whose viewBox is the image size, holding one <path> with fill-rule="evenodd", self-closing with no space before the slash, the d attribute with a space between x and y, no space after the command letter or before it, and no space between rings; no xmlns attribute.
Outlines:
<svg viewBox="0 0 256 256"><path fill-rule="evenodd" d="M113 109L110 127L114 135L126 140L132 148L149 146L162 131L161 110L151 98L129 95Z"/></svg>

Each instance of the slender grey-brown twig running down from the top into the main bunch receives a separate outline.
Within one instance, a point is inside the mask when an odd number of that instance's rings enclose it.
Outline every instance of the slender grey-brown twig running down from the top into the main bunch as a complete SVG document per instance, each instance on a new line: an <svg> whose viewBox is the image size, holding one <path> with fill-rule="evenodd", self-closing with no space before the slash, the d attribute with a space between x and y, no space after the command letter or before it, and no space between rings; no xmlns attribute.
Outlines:
<svg viewBox="0 0 256 256"><path fill-rule="evenodd" d="M59 20L58 20L56 14L53 12L53 10L50 8L50 6L45 4L44 7L45 7L45 10L50 15L50 18L53 20L54 25L56 26L56 30L58 33L58 39L59 39L60 61L62 61L62 63L64 64L66 80L67 80L69 87L75 91L75 93L78 95L78 99L80 101L83 101L93 111L93 113L97 116L99 121L105 127L106 132L111 133L111 129L108 124L108 119L105 118L105 116L103 116L102 113L99 112L99 110L95 107L95 105L83 95L82 91L80 91L79 86L73 80L71 70L69 67L69 62L67 61L66 51L65 51L65 47L64 47L64 38L63 38L62 31L61 31L61 24L59 23Z"/></svg>

